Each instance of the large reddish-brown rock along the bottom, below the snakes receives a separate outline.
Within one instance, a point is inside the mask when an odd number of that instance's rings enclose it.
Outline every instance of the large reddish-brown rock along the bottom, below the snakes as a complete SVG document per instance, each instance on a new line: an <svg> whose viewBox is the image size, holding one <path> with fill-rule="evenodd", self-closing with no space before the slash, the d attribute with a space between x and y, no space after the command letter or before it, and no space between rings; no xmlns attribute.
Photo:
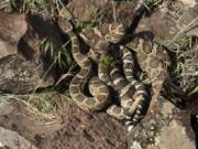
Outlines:
<svg viewBox="0 0 198 149"><path fill-rule="evenodd" d="M57 96L53 96L56 100ZM3 108L3 109L1 109ZM8 108L6 110L4 108ZM127 149L127 127L106 113L86 113L64 104L54 123L35 118L20 102L0 106L0 125L16 130L40 149ZM18 114L18 115L15 115ZM35 120L33 120L35 119Z"/></svg>

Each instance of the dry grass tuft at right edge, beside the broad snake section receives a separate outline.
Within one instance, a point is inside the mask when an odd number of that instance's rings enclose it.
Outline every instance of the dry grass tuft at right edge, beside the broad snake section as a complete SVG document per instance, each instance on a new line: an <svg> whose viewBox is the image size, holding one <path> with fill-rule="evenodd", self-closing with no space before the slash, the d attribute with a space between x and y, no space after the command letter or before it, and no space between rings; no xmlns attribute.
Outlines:
<svg viewBox="0 0 198 149"><path fill-rule="evenodd" d="M174 53L170 72L173 81L187 94L198 93L198 38L180 35L170 40L166 47Z"/></svg>

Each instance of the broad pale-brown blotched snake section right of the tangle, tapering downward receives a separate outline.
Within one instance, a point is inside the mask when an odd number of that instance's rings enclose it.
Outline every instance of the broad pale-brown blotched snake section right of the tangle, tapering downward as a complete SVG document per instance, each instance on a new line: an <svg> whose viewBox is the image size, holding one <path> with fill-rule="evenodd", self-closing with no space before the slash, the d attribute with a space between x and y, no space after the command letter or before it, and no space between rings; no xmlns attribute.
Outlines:
<svg viewBox="0 0 198 149"><path fill-rule="evenodd" d="M169 55L160 44L141 38L135 38L127 46L136 52L140 67L146 72L152 82L152 99L156 100L164 82L168 78Z"/></svg>

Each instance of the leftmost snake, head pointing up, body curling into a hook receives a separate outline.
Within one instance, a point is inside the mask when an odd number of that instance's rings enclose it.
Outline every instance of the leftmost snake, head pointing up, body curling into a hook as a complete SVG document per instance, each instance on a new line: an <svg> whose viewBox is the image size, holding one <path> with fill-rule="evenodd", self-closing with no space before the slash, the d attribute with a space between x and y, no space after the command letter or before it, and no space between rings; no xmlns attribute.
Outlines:
<svg viewBox="0 0 198 149"><path fill-rule="evenodd" d="M70 36L73 56L80 66L80 72L70 82L70 96L81 109L100 110L110 100L109 88L97 76L95 76L89 81L89 91L94 97L85 95L84 88L85 84L88 82L92 64L86 55L81 54L79 40L74 33L70 22L59 19L58 23L62 30Z"/></svg>

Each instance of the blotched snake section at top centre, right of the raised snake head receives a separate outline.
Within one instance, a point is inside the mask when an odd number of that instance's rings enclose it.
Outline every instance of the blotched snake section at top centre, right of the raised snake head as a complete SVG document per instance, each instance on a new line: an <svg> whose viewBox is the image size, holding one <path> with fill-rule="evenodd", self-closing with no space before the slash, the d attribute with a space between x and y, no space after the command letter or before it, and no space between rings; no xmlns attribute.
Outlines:
<svg viewBox="0 0 198 149"><path fill-rule="evenodd" d="M118 43L124 35L124 26L120 23L105 24L100 28L85 29L80 36L90 46L88 56L99 62L100 55L106 53L110 43Z"/></svg>

